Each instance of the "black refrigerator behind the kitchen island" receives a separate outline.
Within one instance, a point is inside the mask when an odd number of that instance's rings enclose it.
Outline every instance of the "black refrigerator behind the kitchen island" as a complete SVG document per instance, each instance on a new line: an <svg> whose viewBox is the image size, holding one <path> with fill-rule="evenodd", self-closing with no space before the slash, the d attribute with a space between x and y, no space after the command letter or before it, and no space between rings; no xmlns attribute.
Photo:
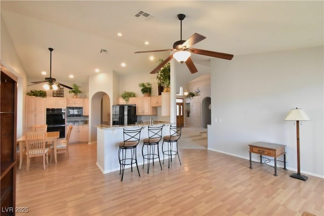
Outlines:
<svg viewBox="0 0 324 216"><path fill-rule="evenodd" d="M137 122L136 106L113 105L112 125L130 125Z"/></svg>

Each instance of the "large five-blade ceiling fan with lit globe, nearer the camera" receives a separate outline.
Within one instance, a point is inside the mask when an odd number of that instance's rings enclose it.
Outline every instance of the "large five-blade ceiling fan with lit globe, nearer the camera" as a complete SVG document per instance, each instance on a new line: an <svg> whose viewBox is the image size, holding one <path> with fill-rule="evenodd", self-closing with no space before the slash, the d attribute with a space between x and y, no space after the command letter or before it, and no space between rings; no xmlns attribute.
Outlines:
<svg viewBox="0 0 324 216"><path fill-rule="evenodd" d="M163 67L166 63L168 63L172 58L175 58L177 61L180 63L185 62L187 67L190 70L190 73L196 73L198 70L196 66L194 65L192 59L190 58L191 53L194 54L199 54L199 55L206 55L206 56L211 56L211 57L216 57L216 58L223 58L227 60L231 60L233 58L232 54L227 54L227 53L219 53L219 52L214 52L214 51L209 51L209 50L201 50L201 49L195 49L191 48L192 45L203 41L206 39L205 36L194 33L191 35L191 37L187 41L182 40L182 20L186 15L184 14L178 14L178 19L180 20L180 41L177 41L173 44L173 49L165 49L165 50L150 50L150 51L138 51L135 53L148 53L148 52L163 52L163 51L176 51L174 54L170 55L166 60L161 62L157 67L155 67L150 74L155 74L157 71Z"/></svg>

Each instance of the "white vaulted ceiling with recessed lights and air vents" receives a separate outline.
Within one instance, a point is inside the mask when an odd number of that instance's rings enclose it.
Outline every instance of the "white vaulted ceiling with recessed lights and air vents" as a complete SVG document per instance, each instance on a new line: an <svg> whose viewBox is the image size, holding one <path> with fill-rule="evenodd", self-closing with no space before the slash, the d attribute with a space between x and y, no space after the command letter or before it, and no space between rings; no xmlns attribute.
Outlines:
<svg viewBox="0 0 324 216"><path fill-rule="evenodd" d="M152 16L137 18L139 10ZM95 68L148 74L158 58L170 53L134 52L172 48L180 40L179 13L186 15L183 40L194 32L203 34L207 39L194 48L234 58L323 46L323 1L1 1L1 19L29 81L44 80L43 70L49 73L52 47L52 77L68 85L87 83ZM100 54L101 49L108 53ZM198 70L210 62L206 56L192 59ZM121 67L121 62L127 66Z"/></svg>

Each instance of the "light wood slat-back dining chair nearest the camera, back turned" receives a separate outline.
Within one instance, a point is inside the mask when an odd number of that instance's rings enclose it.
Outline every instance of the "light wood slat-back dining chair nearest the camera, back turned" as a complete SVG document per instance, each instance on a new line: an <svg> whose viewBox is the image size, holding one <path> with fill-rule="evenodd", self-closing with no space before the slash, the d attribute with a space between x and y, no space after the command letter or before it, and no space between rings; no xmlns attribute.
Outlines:
<svg viewBox="0 0 324 216"><path fill-rule="evenodd" d="M46 145L46 131L26 132L26 171L30 166L30 158L43 156L43 167L46 169L46 162L49 163L48 152Z"/></svg>

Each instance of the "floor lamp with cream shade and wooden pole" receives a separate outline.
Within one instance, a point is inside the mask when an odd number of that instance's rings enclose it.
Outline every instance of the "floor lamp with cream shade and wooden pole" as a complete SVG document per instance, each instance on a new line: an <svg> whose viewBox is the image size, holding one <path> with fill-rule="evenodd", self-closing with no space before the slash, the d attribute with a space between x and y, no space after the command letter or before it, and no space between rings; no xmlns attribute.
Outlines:
<svg viewBox="0 0 324 216"><path fill-rule="evenodd" d="M310 118L307 114L302 110L298 109L291 109L288 115L285 118L285 121L296 121L296 128L297 128L297 173L293 173L290 176L293 178L298 178L300 180L306 181L307 176L300 174L300 157L299 157L299 121L309 121Z"/></svg>

